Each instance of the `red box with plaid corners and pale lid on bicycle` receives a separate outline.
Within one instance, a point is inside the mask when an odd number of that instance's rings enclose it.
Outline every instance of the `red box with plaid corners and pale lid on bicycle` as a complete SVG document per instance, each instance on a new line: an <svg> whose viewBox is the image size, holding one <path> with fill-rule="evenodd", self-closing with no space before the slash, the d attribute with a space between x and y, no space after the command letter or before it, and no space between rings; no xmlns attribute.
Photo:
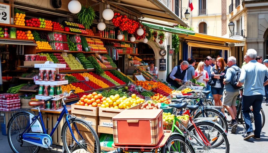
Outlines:
<svg viewBox="0 0 268 153"><path fill-rule="evenodd" d="M157 145L164 134L162 112L162 109L126 110L114 116L114 144Z"/></svg>

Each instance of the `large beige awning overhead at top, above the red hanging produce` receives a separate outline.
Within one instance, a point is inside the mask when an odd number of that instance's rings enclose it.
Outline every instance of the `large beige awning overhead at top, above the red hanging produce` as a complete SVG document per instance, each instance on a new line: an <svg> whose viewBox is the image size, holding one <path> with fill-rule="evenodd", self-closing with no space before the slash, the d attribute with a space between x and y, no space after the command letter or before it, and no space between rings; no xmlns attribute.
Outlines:
<svg viewBox="0 0 268 153"><path fill-rule="evenodd" d="M113 2L114 1L114 2ZM142 17L152 18L180 24L184 27L189 27L183 20L181 20L175 13L167 8L160 0L113 0L109 3L122 5L130 10L139 12Z"/></svg>

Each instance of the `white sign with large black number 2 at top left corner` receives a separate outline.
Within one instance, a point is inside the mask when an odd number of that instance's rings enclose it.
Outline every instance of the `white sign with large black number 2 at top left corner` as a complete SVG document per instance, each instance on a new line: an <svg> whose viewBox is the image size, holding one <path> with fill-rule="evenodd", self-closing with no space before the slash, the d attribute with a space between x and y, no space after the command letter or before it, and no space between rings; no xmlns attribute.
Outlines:
<svg viewBox="0 0 268 153"><path fill-rule="evenodd" d="M10 5L0 3L0 23L10 24Z"/></svg>

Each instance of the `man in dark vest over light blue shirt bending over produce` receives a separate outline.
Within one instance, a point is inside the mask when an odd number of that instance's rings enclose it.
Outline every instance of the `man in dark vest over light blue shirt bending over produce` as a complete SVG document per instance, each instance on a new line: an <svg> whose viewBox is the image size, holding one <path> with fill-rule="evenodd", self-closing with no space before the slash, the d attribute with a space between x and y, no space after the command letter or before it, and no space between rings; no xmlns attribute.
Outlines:
<svg viewBox="0 0 268 153"><path fill-rule="evenodd" d="M187 68L189 63L183 61L181 65L175 66L170 73L170 84L176 88L179 88L181 85L178 82L187 81Z"/></svg>

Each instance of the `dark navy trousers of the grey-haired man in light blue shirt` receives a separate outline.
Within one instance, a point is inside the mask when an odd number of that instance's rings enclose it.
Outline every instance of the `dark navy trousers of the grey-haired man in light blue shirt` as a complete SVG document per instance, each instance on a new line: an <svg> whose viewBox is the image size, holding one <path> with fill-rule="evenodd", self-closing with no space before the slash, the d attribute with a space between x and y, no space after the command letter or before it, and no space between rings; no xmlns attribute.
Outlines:
<svg viewBox="0 0 268 153"><path fill-rule="evenodd" d="M262 130L262 118L260 115L260 108L262 106L262 100L263 95L252 95L252 96L244 96L243 95L243 102L242 102L242 112L243 117L245 120L246 130L247 133L252 132L252 124L250 119L250 106L252 106L253 109L253 115L254 115L254 124L255 124L255 131L254 135L255 137L260 137L260 132Z"/></svg>

